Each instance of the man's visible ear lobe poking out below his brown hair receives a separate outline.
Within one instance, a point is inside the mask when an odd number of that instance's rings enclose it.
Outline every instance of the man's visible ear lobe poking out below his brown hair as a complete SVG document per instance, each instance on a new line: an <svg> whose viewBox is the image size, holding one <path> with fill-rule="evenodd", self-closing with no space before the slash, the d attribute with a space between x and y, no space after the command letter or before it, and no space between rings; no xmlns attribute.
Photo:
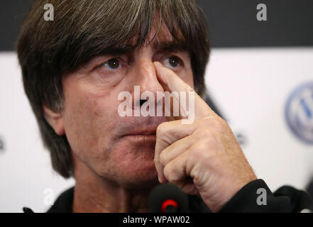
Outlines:
<svg viewBox="0 0 313 227"><path fill-rule="evenodd" d="M48 121L50 126L53 128L57 135L64 135L65 129L63 124L62 114L55 113L50 110L47 106L43 106L43 112L45 114L45 120Z"/></svg>

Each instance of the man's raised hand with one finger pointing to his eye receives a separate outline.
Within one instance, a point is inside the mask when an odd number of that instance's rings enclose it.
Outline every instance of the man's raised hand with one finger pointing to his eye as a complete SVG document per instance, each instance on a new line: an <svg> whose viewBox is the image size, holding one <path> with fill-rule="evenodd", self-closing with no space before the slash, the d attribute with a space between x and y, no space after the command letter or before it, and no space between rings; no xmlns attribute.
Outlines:
<svg viewBox="0 0 313 227"><path fill-rule="evenodd" d="M154 62L168 92L194 92L175 72ZM176 101L178 103L178 101ZM257 179L226 121L194 96L194 122L161 123L156 132L155 167L160 183L198 194L216 212L248 182Z"/></svg>

